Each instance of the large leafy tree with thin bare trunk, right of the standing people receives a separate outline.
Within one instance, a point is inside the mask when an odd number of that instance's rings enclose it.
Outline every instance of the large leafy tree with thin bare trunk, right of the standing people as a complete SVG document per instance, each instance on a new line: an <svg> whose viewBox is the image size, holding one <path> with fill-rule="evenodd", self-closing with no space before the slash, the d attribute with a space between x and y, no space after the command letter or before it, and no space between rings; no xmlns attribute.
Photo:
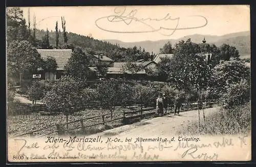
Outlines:
<svg viewBox="0 0 256 167"><path fill-rule="evenodd" d="M178 90L185 90L186 92L196 90L200 127L199 103L203 91L207 88L211 71L204 58L196 54L198 51L200 51L199 45L191 42L190 39L176 44L174 57L171 58L174 64L168 64L167 81L172 82Z"/></svg>

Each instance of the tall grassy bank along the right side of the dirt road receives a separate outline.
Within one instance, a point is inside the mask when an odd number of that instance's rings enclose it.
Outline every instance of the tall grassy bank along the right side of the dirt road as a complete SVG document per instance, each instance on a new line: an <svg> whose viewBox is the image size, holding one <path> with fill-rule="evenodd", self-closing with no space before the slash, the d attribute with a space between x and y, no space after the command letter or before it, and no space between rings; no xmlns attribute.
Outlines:
<svg viewBox="0 0 256 167"><path fill-rule="evenodd" d="M220 108L219 112L206 117L205 124L201 119L200 128L198 121L195 121L177 133L187 135L244 134L249 130L251 130L251 107L248 102L230 110Z"/></svg>

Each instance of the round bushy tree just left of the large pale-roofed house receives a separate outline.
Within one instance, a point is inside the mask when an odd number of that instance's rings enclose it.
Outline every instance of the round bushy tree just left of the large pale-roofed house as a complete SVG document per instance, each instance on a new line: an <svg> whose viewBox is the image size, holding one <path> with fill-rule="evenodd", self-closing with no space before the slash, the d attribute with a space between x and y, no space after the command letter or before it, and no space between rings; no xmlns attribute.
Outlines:
<svg viewBox="0 0 256 167"><path fill-rule="evenodd" d="M7 62L12 71L19 74L20 86L24 74L32 75L42 67L43 60L28 41L13 41L7 47Z"/></svg>

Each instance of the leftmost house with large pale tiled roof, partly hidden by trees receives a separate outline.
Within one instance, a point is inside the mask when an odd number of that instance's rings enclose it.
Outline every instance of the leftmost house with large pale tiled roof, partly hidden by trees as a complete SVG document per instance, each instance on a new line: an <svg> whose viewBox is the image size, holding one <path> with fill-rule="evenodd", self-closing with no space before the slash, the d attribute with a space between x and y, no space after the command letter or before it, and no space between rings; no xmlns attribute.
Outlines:
<svg viewBox="0 0 256 167"><path fill-rule="evenodd" d="M43 60L52 57L57 63L56 72L44 72L41 74L41 79L60 79L63 76L69 58L72 55L72 49L37 49L37 52L41 55Z"/></svg>

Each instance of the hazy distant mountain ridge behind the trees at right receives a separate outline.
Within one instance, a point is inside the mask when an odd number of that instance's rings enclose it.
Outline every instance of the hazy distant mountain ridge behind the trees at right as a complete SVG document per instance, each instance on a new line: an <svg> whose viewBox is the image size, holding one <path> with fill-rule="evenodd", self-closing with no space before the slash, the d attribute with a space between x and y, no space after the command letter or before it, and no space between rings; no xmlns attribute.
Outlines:
<svg viewBox="0 0 256 167"><path fill-rule="evenodd" d="M226 43L236 47L239 50L241 57L250 54L250 32L249 31L231 33L223 36L194 34L194 35L184 36L179 39L158 40L158 41L140 41L140 42L122 42L120 40L102 40L102 41L110 42L111 44L118 44L121 47L125 47L125 48L133 47L135 45L138 47L141 46L142 48L145 48L145 51L154 52L157 54L160 48L163 47L163 45L168 41L170 41L174 46L177 42L181 40L186 41L188 38L190 38L191 41L193 42L201 43L204 37L206 42L209 44L212 43L217 46L220 46L223 43Z"/></svg>

